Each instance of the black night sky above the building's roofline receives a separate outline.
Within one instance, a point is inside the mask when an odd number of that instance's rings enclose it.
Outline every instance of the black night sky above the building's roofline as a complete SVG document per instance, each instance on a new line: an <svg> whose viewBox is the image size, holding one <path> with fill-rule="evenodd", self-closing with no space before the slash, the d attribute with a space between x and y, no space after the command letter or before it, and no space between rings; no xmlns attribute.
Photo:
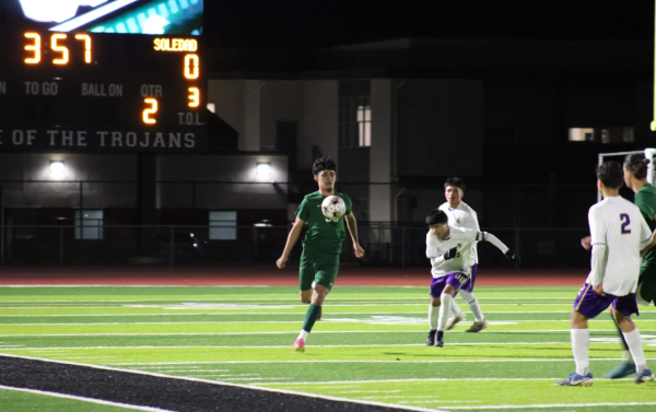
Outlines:
<svg viewBox="0 0 656 412"><path fill-rule="evenodd" d="M651 0L206 0L221 47L304 48L385 38L652 39Z"/></svg>

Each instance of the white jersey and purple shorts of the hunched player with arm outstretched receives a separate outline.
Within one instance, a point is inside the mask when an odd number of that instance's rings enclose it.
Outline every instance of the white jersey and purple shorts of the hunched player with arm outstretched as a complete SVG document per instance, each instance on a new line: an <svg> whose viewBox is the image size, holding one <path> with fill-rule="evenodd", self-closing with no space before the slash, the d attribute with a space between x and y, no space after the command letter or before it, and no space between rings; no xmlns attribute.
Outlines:
<svg viewBox="0 0 656 412"><path fill-rule="evenodd" d="M429 231L426 234L426 257L431 259L432 266L432 297L440 297L447 284L459 291L469 282L471 246L480 240L490 242L504 254L508 250L507 246L499 240L496 236L487 232L449 226L449 235L444 239L438 239ZM454 247L458 248L458 255L453 259L445 260L443 255Z"/></svg>

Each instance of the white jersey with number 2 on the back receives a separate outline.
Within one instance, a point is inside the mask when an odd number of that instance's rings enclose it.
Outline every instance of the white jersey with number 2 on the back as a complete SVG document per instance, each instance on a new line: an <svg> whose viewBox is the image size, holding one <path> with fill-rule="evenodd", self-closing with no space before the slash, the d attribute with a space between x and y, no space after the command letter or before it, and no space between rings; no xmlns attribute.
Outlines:
<svg viewBox="0 0 656 412"><path fill-rule="evenodd" d="M640 209L620 196L609 197L590 208L588 223L593 249L605 246L606 255L599 260L599 268L593 266L586 282L593 284L598 275L602 276L605 293L635 293L642 263L640 251L652 242L652 231Z"/></svg>

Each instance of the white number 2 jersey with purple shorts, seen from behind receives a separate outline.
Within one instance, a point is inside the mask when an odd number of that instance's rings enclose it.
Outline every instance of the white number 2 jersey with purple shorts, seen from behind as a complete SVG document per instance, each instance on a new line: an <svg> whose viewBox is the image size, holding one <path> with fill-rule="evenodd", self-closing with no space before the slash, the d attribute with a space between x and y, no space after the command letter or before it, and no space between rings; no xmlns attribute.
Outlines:
<svg viewBox="0 0 656 412"><path fill-rule="evenodd" d="M640 209L622 197L609 197L588 212L591 268L574 301L574 309L590 319L610 305L624 316L637 314L635 290L642 258L652 232ZM601 284L606 296L593 286Z"/></svg>

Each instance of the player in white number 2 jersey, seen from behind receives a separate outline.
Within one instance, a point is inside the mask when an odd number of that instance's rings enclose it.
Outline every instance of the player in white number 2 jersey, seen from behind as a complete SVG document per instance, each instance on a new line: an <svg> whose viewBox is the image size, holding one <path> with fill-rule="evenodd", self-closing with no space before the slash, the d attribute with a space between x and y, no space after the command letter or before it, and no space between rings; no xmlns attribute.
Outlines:
<svg viewBox="0 0 656 412"><path fill-rule="evenodd" d="M654 379L647 368L642 340L631 315L639 315L635 291L641 264L641 250L652 244L652 231L640 209L620 197L624 179L617 162L604 163L597 169L597 188L604 200L588 212L593 257L590 273L574 301L570 336L576 370L560 386L590 386L587 320L609 306L635 362L636 384Z"/></svg>

